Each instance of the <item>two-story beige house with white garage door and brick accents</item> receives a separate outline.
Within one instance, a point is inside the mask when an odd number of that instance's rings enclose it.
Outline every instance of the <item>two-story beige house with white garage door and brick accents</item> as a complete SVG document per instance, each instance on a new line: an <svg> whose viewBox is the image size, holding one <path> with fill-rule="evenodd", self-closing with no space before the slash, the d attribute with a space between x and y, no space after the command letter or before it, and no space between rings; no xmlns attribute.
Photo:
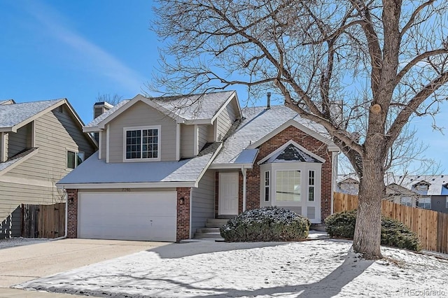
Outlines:
<svg viewBox="0 0 448 298"><path fill-rule="evenodd" d="M236 92L137 95L84 127L99 150L60 180L69 237L181 241L210 218L281 206L330 215L339 152L285 106L241 110Z"/></svg>

